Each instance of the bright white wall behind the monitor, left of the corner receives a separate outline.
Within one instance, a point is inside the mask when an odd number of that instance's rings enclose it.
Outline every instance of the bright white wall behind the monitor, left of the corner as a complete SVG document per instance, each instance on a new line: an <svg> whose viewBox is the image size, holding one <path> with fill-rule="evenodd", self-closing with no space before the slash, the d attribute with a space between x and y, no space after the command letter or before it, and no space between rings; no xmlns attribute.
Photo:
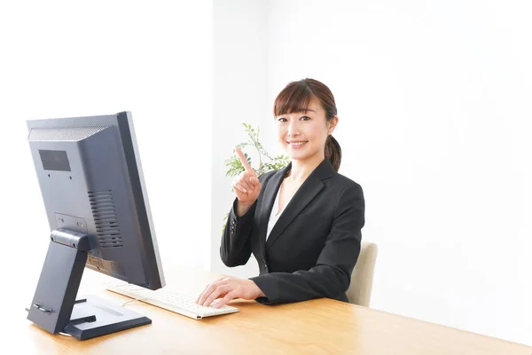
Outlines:
<svg viewBox="0 0 532 355"><path fill-rule="evenodd" d="M36 285L50 233L25 120L123 110L163 267L209 267L211 17L207 0L0 4L4 285Z"/></svg>

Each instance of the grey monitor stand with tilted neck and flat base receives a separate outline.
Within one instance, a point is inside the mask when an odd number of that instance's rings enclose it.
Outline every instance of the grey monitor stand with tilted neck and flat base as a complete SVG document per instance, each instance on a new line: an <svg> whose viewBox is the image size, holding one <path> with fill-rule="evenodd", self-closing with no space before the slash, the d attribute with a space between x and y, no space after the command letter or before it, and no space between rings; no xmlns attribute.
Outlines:
<svg viewBox="0 0 532 355"><path fill-rule="evenodd" d="M79 340L152 323L136 312L97 296L76 300L90 250L87 234L59 229L51 241L27 319L51 334Z"/></svg>

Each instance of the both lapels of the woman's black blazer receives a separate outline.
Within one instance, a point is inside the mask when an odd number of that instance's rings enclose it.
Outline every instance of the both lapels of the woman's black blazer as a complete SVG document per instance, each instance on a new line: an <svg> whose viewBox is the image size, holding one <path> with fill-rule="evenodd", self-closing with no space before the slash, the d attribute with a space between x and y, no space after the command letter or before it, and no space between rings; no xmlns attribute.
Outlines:
<svg viewBox="0 0 532 355"><path fill-rule="evenodd" d="M291 164L287 168L289 169L290 167ZM262 217L265 218L262 220L264 229L267 228L271 209L273 208L273 202L275 201L278 189L288 169L280 170L283 172L280 174L278 173L275 177L270 179L273 185L270 186L271 183L269 184L269 188L267 189L267 191L269 191L264 200L264 202L268 201L268 204L265 205L268 208L262 213ZM266 249L270 248L271 245L278 240L279 236L285 231L286 227L290 225L293 219L301 213L301 210L307 207L310 201L314 200L317 194L325 187L322 180L332 177L333 172L334 169L332 168L331 162L329 159L325 158L324 162L321 162L317 168L310 173L309 177L307 177L303 184L301 184L300 188L293 195L290 202L288 202L288 205L286 205L285 210L279 217L276 225L273 226L270 236L268 237L268 241L266 241ZM266 233L264 233L264 238L266 238Z"/></svg>

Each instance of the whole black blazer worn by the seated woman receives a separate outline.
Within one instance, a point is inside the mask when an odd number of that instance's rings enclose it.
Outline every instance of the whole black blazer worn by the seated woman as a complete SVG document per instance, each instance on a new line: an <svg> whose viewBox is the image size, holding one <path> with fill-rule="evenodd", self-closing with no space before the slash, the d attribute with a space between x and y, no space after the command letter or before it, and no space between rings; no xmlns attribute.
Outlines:
<svg viewBox="0 0 532 355"><path fill-rule="evenodd" d="M260 275L250 280L266 295L256 299L262 304L319 297L348 302L364 226L362 187L325 159L293 195L266 241L273 203L291 167L259 177L261 193L246 215L237 217L235 199L222 236L223 264L243 265L254 254Z"/></svg>

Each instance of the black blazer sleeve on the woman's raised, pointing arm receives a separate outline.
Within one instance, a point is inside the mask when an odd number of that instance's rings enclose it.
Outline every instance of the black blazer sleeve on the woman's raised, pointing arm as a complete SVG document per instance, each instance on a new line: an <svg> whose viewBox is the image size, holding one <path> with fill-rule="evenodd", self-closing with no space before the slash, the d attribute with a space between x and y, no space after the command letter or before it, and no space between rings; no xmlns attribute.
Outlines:
<svg viewBox="0 0 532 355"><path fill-rule="evenodd" d="M265 176L266 174L259 176L261 184L263 184ZM223 229L220 245L220 257L222 258L223 264L229 267L244 265L249 260L249 256L251 256L250 237L254 229L254 212L257 201L241 217L237 216L237 202L238 199L233 201L227 223Z"/></svg>

